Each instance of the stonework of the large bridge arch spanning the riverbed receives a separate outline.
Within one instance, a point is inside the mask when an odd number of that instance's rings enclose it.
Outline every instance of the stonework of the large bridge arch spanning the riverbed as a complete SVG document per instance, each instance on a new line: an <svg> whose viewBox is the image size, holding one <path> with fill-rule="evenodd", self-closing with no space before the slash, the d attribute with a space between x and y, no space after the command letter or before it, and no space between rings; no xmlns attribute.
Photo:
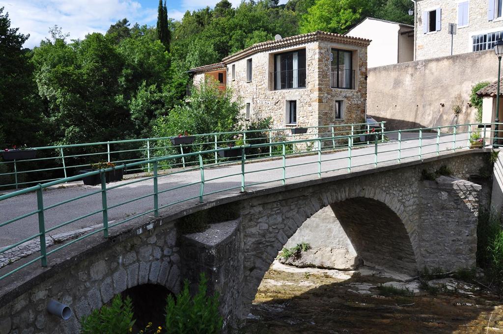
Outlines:
<svg viewBox="0 0 503 334"><path fill-rule="evenodd" d="M404 244L407 255L407 261L403 263L407 264L407 272L416 270L418 254L415 249L418 245L414 245L414 242L417 243L415 225L409 220L409 216L413 215L412 212L407 212L403 203L393 193L385 192L378 186L372 185L370 179L366 182L365 178L362 178L358 185L343 181L329 186L298 189L295 192L289 192L288 195L265 196L260 200L252 200L249 204L245 204L247 208L243 210L245 213L242 216L244 289L242 311L238 317L242 318L247 314L265 273L283 245L304 221L327 206L337 208L341 204L350 203L353 207L358 207L357 204L362 205L362 203L357 203L362 202L361 199L374 205L378 203L379 207L385 209L386 214L392 217L393 226L400 227L402 232L400 240L403 240L401 244ZM349 220L346 219L346 222L349 228ZM368 256L363 256L363 258L365 260ZM398 258L395 260L399 262Z"/></svg>

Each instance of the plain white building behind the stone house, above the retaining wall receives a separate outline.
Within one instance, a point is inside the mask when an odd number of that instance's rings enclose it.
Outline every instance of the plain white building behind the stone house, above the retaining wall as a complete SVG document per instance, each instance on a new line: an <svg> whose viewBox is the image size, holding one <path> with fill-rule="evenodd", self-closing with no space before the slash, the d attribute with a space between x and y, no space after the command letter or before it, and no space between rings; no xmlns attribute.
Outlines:
<svg viewBox="0 0 503 334"><path fill-rule="evenodd" d="M397 64L414 58L414 26L366 18L346 36L372 39L368 47L368 67Z"/></svg>

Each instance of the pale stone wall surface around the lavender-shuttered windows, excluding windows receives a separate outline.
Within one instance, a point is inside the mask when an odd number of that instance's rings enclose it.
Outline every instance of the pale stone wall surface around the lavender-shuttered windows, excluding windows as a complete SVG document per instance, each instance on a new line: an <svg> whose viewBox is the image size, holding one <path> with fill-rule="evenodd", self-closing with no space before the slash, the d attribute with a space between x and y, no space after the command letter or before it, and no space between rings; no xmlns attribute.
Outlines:
<svg viewBox="0 0 503 334"><path fill-rule="evenodd" d="M503 18L488 20L488 3L493 0L469 0L468 25L458 26L453 39L453 54L472 52L472 36L503 31ZM449 23L458 24L458 3L461 1L420 0L416 9L416 60L448 56L451 54ZM442 10L441 30L424 33L425 12Z"/></svg>

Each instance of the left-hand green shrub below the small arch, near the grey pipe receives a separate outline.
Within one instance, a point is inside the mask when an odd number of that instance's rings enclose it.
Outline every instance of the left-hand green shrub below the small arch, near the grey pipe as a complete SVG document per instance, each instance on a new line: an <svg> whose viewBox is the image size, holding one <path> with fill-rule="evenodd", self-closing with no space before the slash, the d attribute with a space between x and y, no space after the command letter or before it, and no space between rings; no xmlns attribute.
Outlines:
<svg viewBox="0 0 503 334"><path fill-rule="evenodd" d="M110 306L93 310L80 321L81 334L124 334L129 333L134 325L131 298L122 300L121 295L112 299Z"/></svg>

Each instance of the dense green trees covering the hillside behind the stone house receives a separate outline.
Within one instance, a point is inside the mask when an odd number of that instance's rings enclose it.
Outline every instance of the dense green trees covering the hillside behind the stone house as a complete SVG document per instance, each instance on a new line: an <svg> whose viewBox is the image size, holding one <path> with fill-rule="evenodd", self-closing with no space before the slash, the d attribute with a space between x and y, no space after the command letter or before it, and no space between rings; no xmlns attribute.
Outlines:
<svg viewBox="0 0 503 334"><path fill-rule="evenodd" d="M159 0L156 27L131 27L124 18L105 35L70 41L55 26L51 38L33 50L23 49L28 36L11 28L2 8L0 147L148 137L160 125L175 129L179 125L166 122L183 117L191 122L193 111L220 113L217 103L185 103L189 68L220 61L276 34L344 33L366 16L410 23L410 6L408 0L290 0L285 5L260 0L233 8L221 0L173 21L166 2ZM234 115L219 119L211 130L234 126ZM209 131L202 124L187 126L192 133Z"/></svg>

